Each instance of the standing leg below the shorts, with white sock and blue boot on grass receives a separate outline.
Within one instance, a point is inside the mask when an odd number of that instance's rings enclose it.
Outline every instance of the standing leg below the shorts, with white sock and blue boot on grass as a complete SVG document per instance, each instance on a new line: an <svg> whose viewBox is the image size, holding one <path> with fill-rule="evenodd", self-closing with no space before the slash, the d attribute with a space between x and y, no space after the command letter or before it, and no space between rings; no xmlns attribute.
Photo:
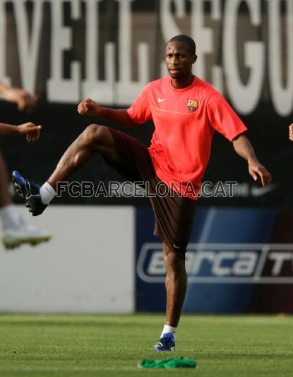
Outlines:
<svg viewBox="0 0 293 377"><path fill-rule="evenodd" d="M181 316L187 285L185 260L180 258L166 244L163 244L164 263L166 269L166 323L159 342L155 345L156 351L174 351L177 325Z"/></svg>

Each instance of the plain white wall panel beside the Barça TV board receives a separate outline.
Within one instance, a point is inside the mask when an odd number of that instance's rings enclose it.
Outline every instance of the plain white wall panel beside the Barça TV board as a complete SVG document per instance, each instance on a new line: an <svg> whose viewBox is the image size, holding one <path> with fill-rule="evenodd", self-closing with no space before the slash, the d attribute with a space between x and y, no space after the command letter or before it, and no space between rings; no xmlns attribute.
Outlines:
<svg viewBox="0 0 293 377"><path fill-rule="evenodd" d="M134 208L51 205L39 217L17 210L53 238L13 251L1 244L0 311L134 310Z"/></svg>

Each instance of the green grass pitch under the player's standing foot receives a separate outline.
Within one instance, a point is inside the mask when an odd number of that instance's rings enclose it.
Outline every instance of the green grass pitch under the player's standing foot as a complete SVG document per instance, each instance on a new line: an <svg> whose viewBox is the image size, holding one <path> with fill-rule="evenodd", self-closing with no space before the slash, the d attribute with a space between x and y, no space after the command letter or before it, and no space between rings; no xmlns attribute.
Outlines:
<svg viewBox="0 0 293 377"><path fill-rule="evenodd" d="M177 351L159 315L0 315L0 376L293 376L292 316L183 316ZM138 369L186 356L196 369Z"/></svg>

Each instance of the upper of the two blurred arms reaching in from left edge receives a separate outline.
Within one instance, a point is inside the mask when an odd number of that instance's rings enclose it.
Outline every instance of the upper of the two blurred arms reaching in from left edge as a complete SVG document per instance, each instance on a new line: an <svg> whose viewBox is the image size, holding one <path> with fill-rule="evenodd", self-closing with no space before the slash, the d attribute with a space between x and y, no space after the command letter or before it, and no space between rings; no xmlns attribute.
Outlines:
<svg viewBox="0 0 293 377"><path fill-rule="evenodd" d="M13 88L1 82L0 94L3 95L8 102L16 103L19 111L26 110L27 112L32 112L39 100L37 95L31 95L24 89Z"/></svg>

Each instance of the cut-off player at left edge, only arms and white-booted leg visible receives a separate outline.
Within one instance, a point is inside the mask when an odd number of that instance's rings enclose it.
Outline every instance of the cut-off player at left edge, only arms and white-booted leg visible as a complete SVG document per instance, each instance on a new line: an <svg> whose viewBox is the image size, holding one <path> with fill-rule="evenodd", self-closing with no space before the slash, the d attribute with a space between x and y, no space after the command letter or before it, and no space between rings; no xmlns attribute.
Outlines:
<svg viewBox="0 0 293 377"><path fill-rule="evenodd" d="M13 88L4 83L0 83L0 94L9 102L17 104L18 110L32 112L35 107L37 97L30 95L20 88ZM0 136L26 134L28 141L35 141L40 137L41 126L33 123L11 124L0 123ZM8 178L4 158L0 152L0 220L3 227L2 241L6 249L13 249L21 244L36 245L42 241L48 241L52 234L44 229L26 225L20 219L12 204L11 194L8 191Z"/></svg>

